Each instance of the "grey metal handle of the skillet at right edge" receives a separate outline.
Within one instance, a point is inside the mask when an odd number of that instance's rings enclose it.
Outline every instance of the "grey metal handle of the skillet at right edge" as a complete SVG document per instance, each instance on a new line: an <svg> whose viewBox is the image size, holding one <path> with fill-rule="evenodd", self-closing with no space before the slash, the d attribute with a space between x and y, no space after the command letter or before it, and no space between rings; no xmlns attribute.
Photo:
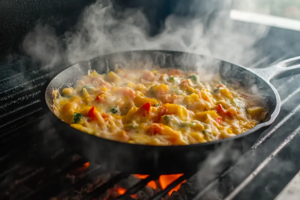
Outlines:
<svg viewBox="0 0 300 200"><path fill-rule="evenodd" d="M279 79L287 76L292 76L294 74L300 74L300 56L286 59L275 65L271 65L265 68L247 69L267 81L270 81L274 78Z"/></svg>

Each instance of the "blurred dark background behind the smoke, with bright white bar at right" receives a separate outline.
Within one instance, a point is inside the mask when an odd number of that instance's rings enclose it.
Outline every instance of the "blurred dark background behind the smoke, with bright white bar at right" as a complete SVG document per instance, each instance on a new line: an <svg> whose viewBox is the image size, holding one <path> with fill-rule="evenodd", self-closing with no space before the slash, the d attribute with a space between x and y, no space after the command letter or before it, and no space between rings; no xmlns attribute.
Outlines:
<svg viewBox="0 0 300 200"><path fill-rule="evenodd" d="M57 36L66 31L76 32L76 23L82 18L83 10L92 3L94 0L1 1L1 58L16 52L24 53L23 40L37 25L49 25ZM241 35L247 33L247 29L266 27L266 33L253 42L253 48L261 51L262 58L268 56L268 62L283 56L297 56L300 52L300 1L297 0L115 0L113 6L119 13L128 8L141 10L149 22L147 33L150 37L164 30L165 20L170 15L198 19L205 32L222 13L226 24L230 22L230 27L224 27L235 32L238 30ZM64 46L64 41L61 42L60 45Z"/></svg>

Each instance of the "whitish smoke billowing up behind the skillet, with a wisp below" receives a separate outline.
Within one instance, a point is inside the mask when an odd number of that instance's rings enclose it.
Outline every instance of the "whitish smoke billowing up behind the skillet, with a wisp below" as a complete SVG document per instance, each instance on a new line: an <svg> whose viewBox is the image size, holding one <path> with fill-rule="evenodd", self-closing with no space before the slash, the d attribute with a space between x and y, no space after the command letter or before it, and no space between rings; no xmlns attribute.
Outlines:
<svg viewBox="0 0 300 200"><path fill-rule="evenodd" d="M224 1L225 2L225 1ZM198 0L190 4L193 10L203 6ZM253 8L255 1L243 1L241 7ZM35 60L52 65L63 56L70 63L89 60L101 54L135 49L162 49L209 55L237 64L252 63L260 54L253 45L268 32L265 26L237 26L228 18L228 10L220 10L206 27L206 16L192 19L170 15L160 34L149 37L150 24L139 9L114 10L108 0L98 0L88 6L76 25L76 31L57 37L49 26L37 26L23 43L24 50ZM180 8L178 8L180 9ZM215 8L201 7L207 16ZM208 19L207 19L208 20ZM59 44L63 41L65 49ZM247 66L251 67L251 66ZM223 147L223 149L230 146ZM225 151L224 151L225 152ZM199 185L204 186L222 169L216 167L224 159L235 160L240 152L232 150L230 157L222 151L209 157L200 166ZM214 168L215 167L215 168ZM209 175L207 175L209 174Z"/></svg>

